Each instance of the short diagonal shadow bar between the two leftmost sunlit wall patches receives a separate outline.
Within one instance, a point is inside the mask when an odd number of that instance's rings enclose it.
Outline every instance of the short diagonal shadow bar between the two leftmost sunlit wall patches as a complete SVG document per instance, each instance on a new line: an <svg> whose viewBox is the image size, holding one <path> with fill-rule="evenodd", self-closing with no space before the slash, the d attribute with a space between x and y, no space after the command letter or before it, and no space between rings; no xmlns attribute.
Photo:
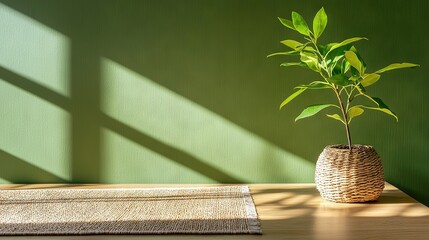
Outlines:
<svg viewBox="0 0 429 240"><path fill-rule="evenodd" d="M63 95L56 93L38 83L35 83L21 75L9 71L8 69L0 66L0 78L1 80L10 83L26 92L34 94L35 96L48 101L66 111L70 112L71 104L70 100Z"/></svg>

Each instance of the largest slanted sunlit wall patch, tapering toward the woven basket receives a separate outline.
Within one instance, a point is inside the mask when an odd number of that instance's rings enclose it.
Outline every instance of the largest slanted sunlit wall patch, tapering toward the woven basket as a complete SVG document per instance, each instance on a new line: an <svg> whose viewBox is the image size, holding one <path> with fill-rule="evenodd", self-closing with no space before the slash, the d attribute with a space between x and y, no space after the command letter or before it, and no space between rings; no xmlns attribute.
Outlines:
<svg viewBox="0 0 429 240"><path fill-rule="evenodd" d="M218 175L248 182L313 178L309 161L106 58L101 59L101 96L108 117L213 167Z"/></svg>

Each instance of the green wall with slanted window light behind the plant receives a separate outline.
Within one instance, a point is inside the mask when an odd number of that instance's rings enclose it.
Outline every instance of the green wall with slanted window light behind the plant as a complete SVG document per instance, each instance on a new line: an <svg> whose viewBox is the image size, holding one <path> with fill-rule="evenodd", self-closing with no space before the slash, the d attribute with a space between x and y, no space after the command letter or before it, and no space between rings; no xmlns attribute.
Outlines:
<svg viewBox="0 0 429 240"><path fill-rule="evenodd" d="M351 126L386 178L429 204L429 3L421 1L0 0L0 181L312 182L323 147L345 141L322 115L294 123L319 99L278 111L316 75L282 69L278 22L324 6L322 41L366 36L359 49L386 73L370 89L398 114Z"/></svg>

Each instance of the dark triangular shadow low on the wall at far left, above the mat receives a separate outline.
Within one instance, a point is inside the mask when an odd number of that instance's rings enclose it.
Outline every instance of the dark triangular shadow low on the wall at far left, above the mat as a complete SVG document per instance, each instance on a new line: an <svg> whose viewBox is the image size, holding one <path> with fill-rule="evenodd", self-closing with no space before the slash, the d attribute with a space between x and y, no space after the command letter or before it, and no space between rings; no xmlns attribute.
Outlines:
<svg viewBox="0 0 429 240"><path fill-rule="evenodd" d="M0 149L0 177L13 183L67 183L58 177L31 163ZM19 181L17 181L19 180Z"/></svg>

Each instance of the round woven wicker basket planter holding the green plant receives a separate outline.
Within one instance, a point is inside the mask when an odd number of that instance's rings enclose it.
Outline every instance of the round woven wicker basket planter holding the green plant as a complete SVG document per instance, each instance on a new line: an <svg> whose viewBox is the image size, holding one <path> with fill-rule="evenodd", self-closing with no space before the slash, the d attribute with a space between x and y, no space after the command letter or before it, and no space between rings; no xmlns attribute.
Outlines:
<svg viewBox="0 0 429 240"><path fill-rule="evenodd" d="M372 146L327 146L317 160L316 186L329 201L375 201L384 189L381 159Z"/></svg>

